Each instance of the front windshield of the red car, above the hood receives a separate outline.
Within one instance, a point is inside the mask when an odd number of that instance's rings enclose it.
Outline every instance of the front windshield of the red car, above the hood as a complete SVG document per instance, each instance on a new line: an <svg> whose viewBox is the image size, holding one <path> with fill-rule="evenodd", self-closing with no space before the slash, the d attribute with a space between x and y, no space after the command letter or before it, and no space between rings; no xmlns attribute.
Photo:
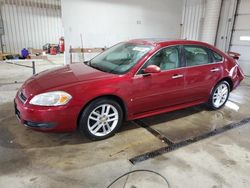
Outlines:
<svg viewBox="0 0 250 188"><path fill-rule="evenodd" d="M104 72L125 74L151 49L147 45L120 43L93 58L88 65Z"/></svg>

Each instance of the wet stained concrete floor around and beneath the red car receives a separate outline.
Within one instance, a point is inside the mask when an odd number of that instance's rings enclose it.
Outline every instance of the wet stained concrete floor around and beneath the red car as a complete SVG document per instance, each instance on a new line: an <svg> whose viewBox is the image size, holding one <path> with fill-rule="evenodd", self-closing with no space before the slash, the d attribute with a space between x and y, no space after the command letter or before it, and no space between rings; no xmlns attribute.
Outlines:
<svg viewBox="0 0 250 188"><path fill-rule="evenodd" d="M38 71L60 66L41 62ZM129 159L166 147L135 122L114 137L91 142L78 133L40 133L20 125L13 111L19 82L32 70L0 63L0 187L107 187L136 169L153 170L171 187L250 187L250 123L133 165ZM17 83L14 83L17 81ZM140 120L173 143L250 117L250 79L219 111L204 105ZM167 187L159 176L137 172L114 187Z"/></svg>

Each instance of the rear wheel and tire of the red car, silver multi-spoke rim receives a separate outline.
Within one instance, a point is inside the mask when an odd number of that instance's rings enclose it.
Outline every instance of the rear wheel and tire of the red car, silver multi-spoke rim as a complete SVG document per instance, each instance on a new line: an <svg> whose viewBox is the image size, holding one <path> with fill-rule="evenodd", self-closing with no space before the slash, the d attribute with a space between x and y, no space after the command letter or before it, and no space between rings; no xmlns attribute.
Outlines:
<svg viewBox="0 0 250 188"><path fill-rule="evenodd" d="M230 86L227 81L221 81L216 84L208 101L209 108L213 110L222 108L226 104L229 94Z"/></svg>

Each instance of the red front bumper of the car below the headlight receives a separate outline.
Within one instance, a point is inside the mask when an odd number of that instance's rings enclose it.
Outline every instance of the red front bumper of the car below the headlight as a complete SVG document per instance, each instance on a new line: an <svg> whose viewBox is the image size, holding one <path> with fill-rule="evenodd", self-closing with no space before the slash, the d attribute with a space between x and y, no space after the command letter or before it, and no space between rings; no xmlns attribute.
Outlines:
<svg viewBox="0 0 250 188"><path fill-rule="evenodd" d="M26 127L44 132L70 132L77 127L78 108L39 107L14 100L17 119Z"/></svg>

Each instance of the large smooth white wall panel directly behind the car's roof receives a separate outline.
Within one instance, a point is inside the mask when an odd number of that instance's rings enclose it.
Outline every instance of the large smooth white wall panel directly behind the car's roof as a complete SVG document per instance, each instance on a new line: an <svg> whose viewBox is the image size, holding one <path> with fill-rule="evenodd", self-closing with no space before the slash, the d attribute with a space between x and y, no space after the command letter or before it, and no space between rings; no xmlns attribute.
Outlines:
<svg viewBox="0 0 250 188"><path fill-rule="evenodd" d="M111 46L133 38L180 38L182 0L62 0L69 46ZM67 55L67 61L68 61Z"/></svg>

